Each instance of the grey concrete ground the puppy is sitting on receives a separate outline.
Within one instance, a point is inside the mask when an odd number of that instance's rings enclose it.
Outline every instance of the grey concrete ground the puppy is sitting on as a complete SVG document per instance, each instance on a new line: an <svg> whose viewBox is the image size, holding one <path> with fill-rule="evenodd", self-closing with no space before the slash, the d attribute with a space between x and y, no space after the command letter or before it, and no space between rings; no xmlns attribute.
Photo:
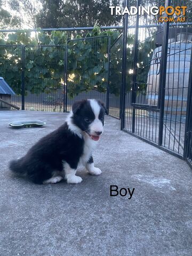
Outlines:
<svg viewBox="0 0 192 256"><path fill-rule="evenodd" d="M40 111L0 112L0 254L191 255L192 171L181 159L119 131L117 119L106 117L105 133L94 153L100 176L82 168L78 185L34 185L9 171L11 159L23 156L65 117ZM46 125L7 125L21 119L41 119ZM110 196L110 185L135 188L132 198Z"/></svg>

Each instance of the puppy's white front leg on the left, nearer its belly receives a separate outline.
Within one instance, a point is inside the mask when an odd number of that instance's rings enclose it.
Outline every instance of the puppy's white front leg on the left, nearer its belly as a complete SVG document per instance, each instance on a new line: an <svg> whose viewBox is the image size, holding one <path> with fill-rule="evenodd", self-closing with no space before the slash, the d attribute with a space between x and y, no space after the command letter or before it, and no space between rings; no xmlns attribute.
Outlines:
<svg viewBox="0 0 192 256"><path fill-rule="evenodd" d="M63 169L64 169L63 171L65 172L65 179L67 180L68 184L77 184L82 182L82 178L75 175L77 171L77 166L74 169L70 166L70 164L65 162L63 163Z"/></svg>

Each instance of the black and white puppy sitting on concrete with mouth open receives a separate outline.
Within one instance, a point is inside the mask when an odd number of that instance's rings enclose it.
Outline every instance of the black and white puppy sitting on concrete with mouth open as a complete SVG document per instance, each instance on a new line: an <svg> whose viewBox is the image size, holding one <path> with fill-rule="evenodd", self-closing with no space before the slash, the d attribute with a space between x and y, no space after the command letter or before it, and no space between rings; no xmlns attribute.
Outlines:
<svg viewBox="0 0 192 256"><path fill-rule="evenodd" d="M107 110L98 100L74 103L66 122L39 140L28 153L10 163L10 169L34 183L57 183L63 178L68 183L80 183L76 176L78 164L83 164L93 175L101 174L94 167L93 149L103 133Z"/></svg>

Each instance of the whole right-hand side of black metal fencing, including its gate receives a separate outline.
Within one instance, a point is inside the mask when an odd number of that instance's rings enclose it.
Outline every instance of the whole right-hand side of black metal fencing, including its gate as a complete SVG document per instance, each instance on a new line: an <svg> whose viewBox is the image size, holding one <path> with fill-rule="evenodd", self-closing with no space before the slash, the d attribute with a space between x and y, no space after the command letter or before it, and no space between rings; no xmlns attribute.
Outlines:
<svg viewBox="0 0 192 256"><path fill-rule="evenodd" d="M130 7L128 1L125 5ZM147 8L153 1L131 5ZM174 6L175 1L156 5ZM186 14L191 17L189 5ZM146 17L124 16L121 128L180 158L188 154L191 161L191 130L186 137L186 129L192 23L158 23L156 16Z"/></svg>

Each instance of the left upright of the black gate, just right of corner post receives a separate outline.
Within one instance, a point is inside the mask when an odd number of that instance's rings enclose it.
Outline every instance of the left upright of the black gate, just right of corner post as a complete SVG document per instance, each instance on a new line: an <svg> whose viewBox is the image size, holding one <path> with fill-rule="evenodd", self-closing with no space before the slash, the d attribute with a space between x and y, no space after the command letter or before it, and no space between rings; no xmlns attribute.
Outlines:
<svg viewBox="0 0 192 256"><path fill-rule="evenodd" d="M137 0L137 10L139 10L140 0ZM133 87L131 95L131 103L135 103L137 95L137 60L138 60L138 34L139 34L139 14L137 13L134 41L134 57L133 57ZM135 108L132 113L132 133L135 132Z"/></svg>

